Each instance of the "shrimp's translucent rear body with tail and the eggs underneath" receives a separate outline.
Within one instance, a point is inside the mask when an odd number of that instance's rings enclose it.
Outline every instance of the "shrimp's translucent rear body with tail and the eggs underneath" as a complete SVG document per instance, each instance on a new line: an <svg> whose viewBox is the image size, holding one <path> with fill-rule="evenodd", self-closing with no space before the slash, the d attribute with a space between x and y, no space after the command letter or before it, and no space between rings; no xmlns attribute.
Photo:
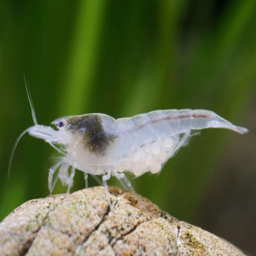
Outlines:
<svg viewBox="0 0 256 256"><path fill-rule="evenodd" d="M157 173L189 139L191 130L220 127L246 133L208 110L157 110L116 120L120 131L118 171L131 170L136 176Z"/></svg>

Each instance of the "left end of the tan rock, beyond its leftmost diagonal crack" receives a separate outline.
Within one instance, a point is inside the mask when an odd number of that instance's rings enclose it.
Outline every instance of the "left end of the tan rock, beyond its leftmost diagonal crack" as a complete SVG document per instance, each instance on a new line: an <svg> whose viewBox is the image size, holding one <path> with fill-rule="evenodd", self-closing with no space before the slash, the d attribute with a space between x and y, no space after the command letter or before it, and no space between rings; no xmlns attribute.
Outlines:
<svg viewBox="0 0 256 256"><path fill-rule="evenodd" d="M49 212L65 195L30 200L16 208L0 224L0 255L25 255Z"/></svg>

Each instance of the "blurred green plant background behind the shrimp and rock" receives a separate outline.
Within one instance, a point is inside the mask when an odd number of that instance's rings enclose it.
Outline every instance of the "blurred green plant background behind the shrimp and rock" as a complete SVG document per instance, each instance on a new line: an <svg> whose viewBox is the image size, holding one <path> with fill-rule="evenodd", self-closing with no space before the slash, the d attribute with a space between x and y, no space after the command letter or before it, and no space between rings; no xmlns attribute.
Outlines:
<svg viewBox="0 0 256 256"><path fill-rule="evenodd" d="M48 169L58 155L25 135L7 180L15 139L33 125L23 74L44 125L84 113L120 118L191 108L246 126L243 136L203 130L158 176L129 179L171 215L256 253L255 229L248 233L256 228L256 1L0 0L0 220L49 195ZM114 178L109 184L121 187ZM72 191L83 187L77 171ZM54 193L65 191L58 181ZM232 216L250 220L247 231L238 221L228 225Z"/></svg>

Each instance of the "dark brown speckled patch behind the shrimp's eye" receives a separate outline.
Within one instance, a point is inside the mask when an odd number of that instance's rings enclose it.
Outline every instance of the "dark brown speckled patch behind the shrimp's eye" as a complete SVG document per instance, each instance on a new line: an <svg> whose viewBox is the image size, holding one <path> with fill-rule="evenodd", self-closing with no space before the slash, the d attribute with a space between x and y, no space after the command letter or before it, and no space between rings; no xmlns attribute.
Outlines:
<svg viewBox="0 0 256 256"><path fill-rule="evenodd" d="M81 131L88 149L100 155L104 155L108 146L117 138L117 135L106 133L98 114L72 116L66 121L69 123L67 130Z"/></svg>

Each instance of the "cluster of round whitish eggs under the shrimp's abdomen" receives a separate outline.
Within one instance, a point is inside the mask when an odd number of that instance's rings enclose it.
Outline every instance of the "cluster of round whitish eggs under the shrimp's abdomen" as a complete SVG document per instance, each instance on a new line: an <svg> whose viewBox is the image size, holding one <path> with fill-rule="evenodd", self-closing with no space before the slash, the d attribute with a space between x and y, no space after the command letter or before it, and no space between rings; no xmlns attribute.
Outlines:
<svg viewBox="0 0 256 256"><path fill-rule="evenodd" d="M160 172L162 165L173 155L177 144L176 138L165 137L152 143L143 144L125 157L118 172L130 171L139 176L145 172Z"/></svg>

